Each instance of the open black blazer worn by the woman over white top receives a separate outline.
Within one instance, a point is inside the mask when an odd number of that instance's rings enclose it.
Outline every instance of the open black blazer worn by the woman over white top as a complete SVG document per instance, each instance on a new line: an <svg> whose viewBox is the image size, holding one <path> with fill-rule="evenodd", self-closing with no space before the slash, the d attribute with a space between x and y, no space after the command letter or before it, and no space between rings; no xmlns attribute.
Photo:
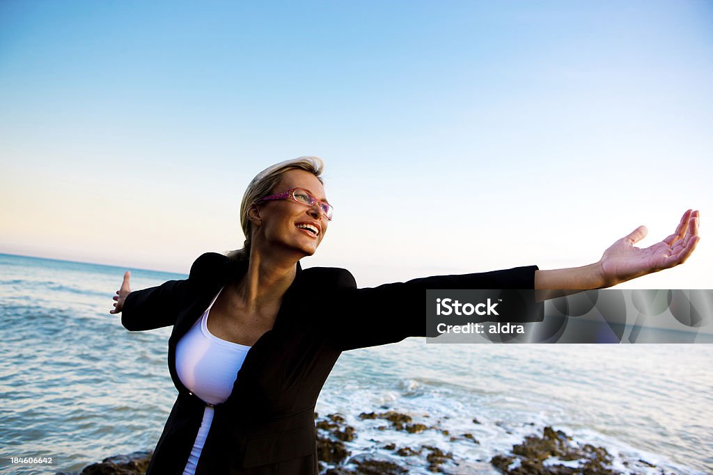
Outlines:
<svg viewBox="0 0 713 475"><path fill-rule="evenodd" d="M426 335L427 288L533 288L536 266L462 276L436 276L376 288L356 288L349 271L308 268L282 300L272 330L245 357L230 397L215 404L196 474L316 475L314 405L339 354ZM247 261L200 256L185 281L133 291L121 323L128 330L173 325L168 370L178 389L147 474L181 474L193 448L205 403L180 381L175 347Z"/></svg>

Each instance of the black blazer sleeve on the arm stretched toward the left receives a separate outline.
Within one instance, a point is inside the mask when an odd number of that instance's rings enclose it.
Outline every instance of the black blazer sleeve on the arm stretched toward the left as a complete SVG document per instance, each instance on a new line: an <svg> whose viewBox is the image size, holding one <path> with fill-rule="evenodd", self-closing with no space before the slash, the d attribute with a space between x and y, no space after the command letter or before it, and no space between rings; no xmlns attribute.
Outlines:
<svg viewBox="0 0 713 475"><path fill-rule="evenodd" d="M168 281L160 286L131 292L121 310L121 324L127 330L143 331L173 325L185 306L191 283L200 282L201 276L225 256L206 253L195 260L188 279Z"/></svg>

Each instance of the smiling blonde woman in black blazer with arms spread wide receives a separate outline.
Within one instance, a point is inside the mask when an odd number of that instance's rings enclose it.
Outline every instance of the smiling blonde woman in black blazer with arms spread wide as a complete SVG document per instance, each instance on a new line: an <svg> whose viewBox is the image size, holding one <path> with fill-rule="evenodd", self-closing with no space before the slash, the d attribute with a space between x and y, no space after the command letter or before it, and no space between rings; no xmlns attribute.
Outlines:
<svg viewBox="0 0 713 475"><path fill-rule="evenodd" d="M178 398L148 474L317 474L314 405L344 350L423 336L427 288L602 288L682 263L697 244L698 212L647 249L641 226L599 262L435 276L357 289L341 268L302 270L327 233L332 205L322 161L274 165L247 187L240 207L247 240L228 256L203 254L185 281L130 291L111 313L128 330L173 325L168 367ZM209 318L210 317L210 318Z"/></svg>

